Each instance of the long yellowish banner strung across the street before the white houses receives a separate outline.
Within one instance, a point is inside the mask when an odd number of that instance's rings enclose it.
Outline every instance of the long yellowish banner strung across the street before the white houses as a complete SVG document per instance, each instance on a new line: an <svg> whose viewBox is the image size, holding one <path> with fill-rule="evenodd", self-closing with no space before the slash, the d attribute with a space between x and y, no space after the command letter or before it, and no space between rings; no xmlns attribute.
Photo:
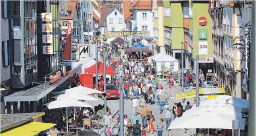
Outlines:
<svg viewBox="0 0 256 136"><path fill-rule="evenodd" d="M107 38L110 37L149 37L150 31L125 31L125 32L109 32L107 33Z"/></svg>

